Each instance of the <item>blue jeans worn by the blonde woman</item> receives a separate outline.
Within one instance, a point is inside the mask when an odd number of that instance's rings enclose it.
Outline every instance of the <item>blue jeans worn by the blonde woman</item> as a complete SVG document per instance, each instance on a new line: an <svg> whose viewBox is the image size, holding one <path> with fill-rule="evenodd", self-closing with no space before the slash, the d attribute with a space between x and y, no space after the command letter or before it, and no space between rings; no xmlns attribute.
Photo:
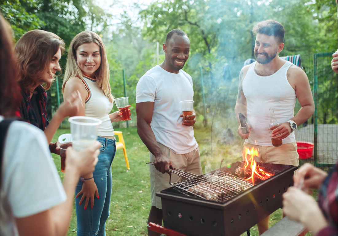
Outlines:
<svg viewBox="0 0 338 236"><path fill-rule="evenodd" d="M116 152L116 139L98 137L97 141L101 143L101 148L93 176L100 198L94 197L93 209L90 207L91 199L89 199L86 210L84 210L85 200L79 206L82 194L75 198L77 236L105 236L105 221L110 214L109 206L113 185L111 166ZM75 196L81 191L82 184L79 180L75 189Z"/></svg>

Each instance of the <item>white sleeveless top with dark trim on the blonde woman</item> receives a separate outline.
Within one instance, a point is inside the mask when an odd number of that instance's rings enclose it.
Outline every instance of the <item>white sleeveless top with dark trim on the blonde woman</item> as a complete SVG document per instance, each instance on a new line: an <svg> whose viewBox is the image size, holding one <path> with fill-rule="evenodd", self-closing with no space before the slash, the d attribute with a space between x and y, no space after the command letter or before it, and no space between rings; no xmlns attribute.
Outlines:
<svg viewBox="0 0 338 236"><path fill-rule="evenodd" d="M96 79L89 76L83 76L80 79L88 91L85 108L86 116L102 120L97 136L113 136L114 128L108 115L113 109L113 103L103 94L96 83Z"/></svg>

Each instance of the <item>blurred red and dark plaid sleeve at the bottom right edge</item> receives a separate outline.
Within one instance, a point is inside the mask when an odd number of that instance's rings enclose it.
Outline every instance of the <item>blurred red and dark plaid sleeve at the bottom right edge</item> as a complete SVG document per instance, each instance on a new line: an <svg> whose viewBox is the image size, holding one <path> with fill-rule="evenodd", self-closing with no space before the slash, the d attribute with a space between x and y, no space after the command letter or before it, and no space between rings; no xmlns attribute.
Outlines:
<svg viewBox="0 0 338 236"><path fill-rule="evenodd" d="M338 170L337 163L324 180L318 194L318 205L330 226L320 230L317 236L337 235L338 209Z"/></svg>

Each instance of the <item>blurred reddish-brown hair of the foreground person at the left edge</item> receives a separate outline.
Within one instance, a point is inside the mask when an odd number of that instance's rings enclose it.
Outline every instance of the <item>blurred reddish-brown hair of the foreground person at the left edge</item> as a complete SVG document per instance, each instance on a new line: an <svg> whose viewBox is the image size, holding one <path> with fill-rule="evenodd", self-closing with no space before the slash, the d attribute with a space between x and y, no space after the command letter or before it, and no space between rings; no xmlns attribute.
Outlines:
<svg viewBox="0 0 338 236"><path fill-rule="evenodd" d="M0 15L0 114L4 117L16 115L21 99L12 35L9 24Z"/></svg>

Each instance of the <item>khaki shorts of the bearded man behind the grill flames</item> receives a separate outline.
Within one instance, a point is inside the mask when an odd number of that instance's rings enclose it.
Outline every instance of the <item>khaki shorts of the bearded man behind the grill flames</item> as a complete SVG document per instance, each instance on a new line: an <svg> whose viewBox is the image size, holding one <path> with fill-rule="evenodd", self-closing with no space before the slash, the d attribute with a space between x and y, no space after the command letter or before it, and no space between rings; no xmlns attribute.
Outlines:
<svg viewBox="0 0 338 236"><path fill-rule="evenodd" d="M279 147L259 146L259 145L244 142L244 147L247 147L247 148L255 147L258 149L259 157L255 158L256 162L293 165L297 167L299 165L299 160L298 160L299 155L297 152L296 142L282 144ZM243 156L243 160L244 160L244 156Z"/></svg>

